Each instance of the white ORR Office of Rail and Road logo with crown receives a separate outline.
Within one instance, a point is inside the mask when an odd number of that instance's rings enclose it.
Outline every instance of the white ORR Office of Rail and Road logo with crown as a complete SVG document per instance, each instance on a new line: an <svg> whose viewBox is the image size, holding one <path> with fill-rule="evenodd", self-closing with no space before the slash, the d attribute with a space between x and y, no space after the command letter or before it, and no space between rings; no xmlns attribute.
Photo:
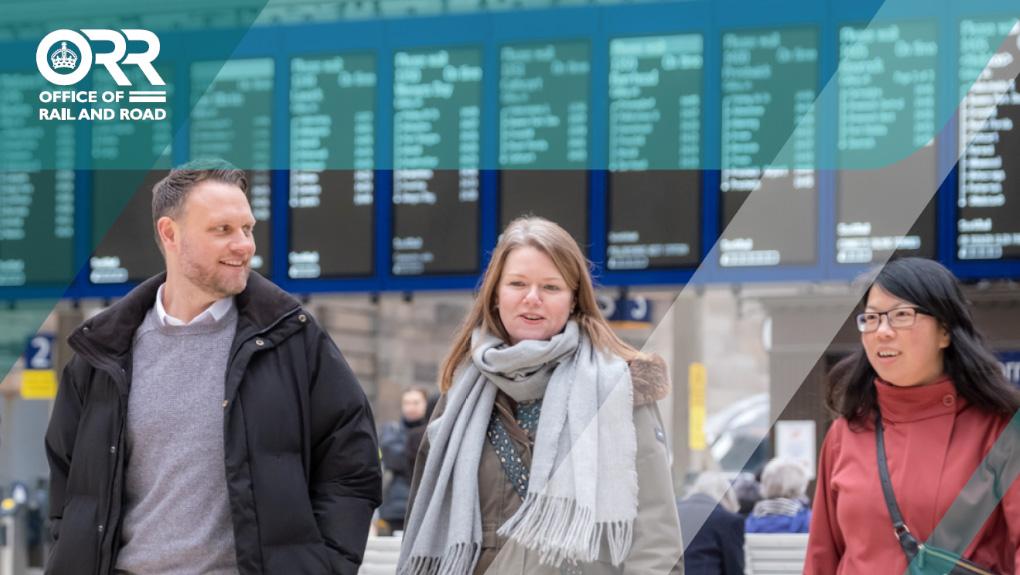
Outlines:
<svg viewBox="0 0 1020 575"><path fill-rule="evenodd" d="M129 44L130 42L134 44ZM94 48L100 43L104 51ZM129 51L129 48L144 47ZM162 120L166 110L151 104L166 103L166 83L153 62L159 55L159 38L147 30L57 30L47 34L36 48L39 73L58 87L73 87L85 80L96 64L102 65L119 88L133 88L124 68L136 67L144 81L161 90L46 90L39 101L55 107L39 110L40 120ZM136 77L138 82L140 79ZM83 104L79 110L66 105ZM107 104L103 106L100 104ZM134 106L132 104L150 104Z"/></svg>

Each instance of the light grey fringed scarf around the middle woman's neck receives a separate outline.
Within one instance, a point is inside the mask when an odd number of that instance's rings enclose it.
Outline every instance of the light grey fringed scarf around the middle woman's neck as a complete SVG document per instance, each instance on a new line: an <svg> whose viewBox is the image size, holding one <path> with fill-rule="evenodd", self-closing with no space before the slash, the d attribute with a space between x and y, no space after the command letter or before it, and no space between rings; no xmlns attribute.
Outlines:
<svg viewBox="0 0 1020 575"><path fill-rule="evenodd" d="M467 575L481 547L478 465L497 388L543 398L527 496L499 530L559 567L591 563L606 541L614 565L638 516L633 390L626 362L596 352L577 324L508 347L475 330L471 362L428 425L429 453L405 526L400 575Z"/></svg>

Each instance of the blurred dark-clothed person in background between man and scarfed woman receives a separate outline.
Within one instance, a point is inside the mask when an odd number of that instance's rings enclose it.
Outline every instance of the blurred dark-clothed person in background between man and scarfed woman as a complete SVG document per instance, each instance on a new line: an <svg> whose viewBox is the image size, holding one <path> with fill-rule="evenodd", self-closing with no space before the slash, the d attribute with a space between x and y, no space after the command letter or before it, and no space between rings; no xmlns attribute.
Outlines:
<svg viewBox="0 0 1020 575"><path fill-rule="evenodd" d="M391 421L379 432L382 467L391 473L390 482L382 494L379 519L385 522L379 534L393 534L404 530L407 498L411 491L411 471L417 455L421 434L428 422L428 391L412 385L400 398L400 420ZM412 441L412 435L417 441Z"/></svg>

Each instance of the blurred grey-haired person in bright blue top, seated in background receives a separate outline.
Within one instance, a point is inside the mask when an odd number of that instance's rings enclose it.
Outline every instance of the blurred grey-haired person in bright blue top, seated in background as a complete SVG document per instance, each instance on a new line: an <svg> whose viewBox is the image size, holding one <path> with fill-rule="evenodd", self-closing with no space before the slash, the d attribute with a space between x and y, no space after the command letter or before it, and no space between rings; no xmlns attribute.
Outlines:
<svg viewBox="0 0 1020 575"><path fill-rule="evenodd" d="M800 463L773 459L762 471L762 494L745 522L748 533L807 533L811 508L808 473Z"/></svg>

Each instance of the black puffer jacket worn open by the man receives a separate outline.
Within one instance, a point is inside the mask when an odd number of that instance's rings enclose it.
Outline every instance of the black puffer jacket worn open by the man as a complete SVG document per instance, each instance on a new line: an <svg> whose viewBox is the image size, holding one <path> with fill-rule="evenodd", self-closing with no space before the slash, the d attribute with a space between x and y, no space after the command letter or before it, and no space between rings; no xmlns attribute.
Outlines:
<svg viewBox="0 0 1020 575"><path fill-rule="evenodd" d="M116 565L132 341L163 281L147 280L68 337L75 355L46 433L47 573L105 575ZM354 575L381 499L368 401L294 298L252 273L235 303L223 442L238 569Z"/></svg>

